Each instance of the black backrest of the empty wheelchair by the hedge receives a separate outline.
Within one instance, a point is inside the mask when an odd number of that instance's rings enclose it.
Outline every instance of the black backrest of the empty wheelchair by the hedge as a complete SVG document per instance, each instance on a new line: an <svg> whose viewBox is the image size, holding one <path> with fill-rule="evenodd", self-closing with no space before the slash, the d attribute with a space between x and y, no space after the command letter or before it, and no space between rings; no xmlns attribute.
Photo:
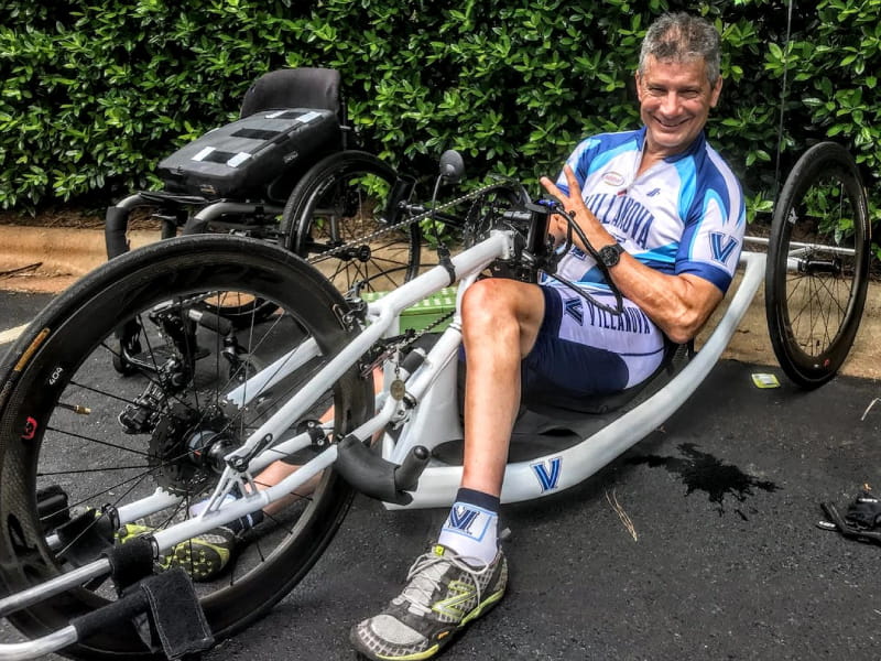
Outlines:
<svg viewBox="0 0 881 661"><path fill-rule="evenodd" d="M317 108L333 110L346 126L346 109L340 97L339 72L329 68L286 68L260 76L242 99L240 117L260 110Z"/></svg>

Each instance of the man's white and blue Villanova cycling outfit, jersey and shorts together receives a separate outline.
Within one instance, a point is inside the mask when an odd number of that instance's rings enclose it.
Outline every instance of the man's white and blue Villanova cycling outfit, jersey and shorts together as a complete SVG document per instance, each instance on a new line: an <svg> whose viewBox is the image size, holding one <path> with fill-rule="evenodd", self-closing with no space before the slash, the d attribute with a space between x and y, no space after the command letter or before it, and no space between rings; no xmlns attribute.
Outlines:
<svg viewBox="0 0 881 661"><path fill-rule="evenodd" d="M740 257L746 212L740 184L701 133L684 152L637 176L645 128L584 140L567 160L585 204L623 248L663 273L692 273L725 293ZM557 186L568 189L565 175ZM573 248L557 267L566 280L613 304L594 259ZM581 401L635 386L662 365L661 329L624 299L620 315L553 278L542 283L545 316L522 364L531 399Z"/></svg>

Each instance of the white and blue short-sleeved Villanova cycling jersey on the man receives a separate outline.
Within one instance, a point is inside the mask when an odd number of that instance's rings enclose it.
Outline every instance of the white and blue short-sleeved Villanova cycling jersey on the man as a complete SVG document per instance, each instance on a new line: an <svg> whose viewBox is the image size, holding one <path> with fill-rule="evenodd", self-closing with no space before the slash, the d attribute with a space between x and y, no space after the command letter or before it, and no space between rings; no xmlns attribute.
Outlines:
<svg viewBox="0 0 881 661"><path fill-rule="evenodd" d="M645 127L584 140L567 160L587 207L633 257L663 273L692 273L725 293L746 229L740 184L703 133L683 153L637 176ZM568 191L565 175L557 186ZM557 268L579 283L601 283L594 259L573 248ZM555 284L551 280L546 284Z"/></svg>

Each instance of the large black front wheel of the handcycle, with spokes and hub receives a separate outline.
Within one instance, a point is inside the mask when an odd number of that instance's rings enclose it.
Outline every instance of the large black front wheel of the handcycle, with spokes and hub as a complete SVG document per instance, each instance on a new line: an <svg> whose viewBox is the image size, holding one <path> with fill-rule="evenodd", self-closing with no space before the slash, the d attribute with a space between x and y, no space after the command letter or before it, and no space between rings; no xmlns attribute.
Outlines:
<svg viewBox="0 0 881 661"><path fill-rule="evenodd" d="M203 304L227 292L260 296L279 311L220 337ZM99 512L116 511L122 523L153 529L189 517L189 506L217 483L222 464L204 458L236 447L348 340L340 311L339 293L300 258L265 242L214 236L130 252L56 299L0 368L3 592L18 593L95 560L95 544L100 550L122 543L120 533L99 533L97 524L95 534L72 538L64 532L70 518L86 520L91 532L93 518L108 516ZM134 371L128 377L112 368L120 332L139 334L129 345L140 345L140 353L131 357ZM297 347L305 347L306 358L296 370L259 391L252 381L243 383ZM230 394L237 387L244 407ZM279 442L331 410L331 438L338 437L372 412L372 392L369 378L349 370L316 393ZM315 456L308 443L291 453L279 458L296 465ZM195 584L217 638L278 603L329 543L351 490L333 470L309 488L267 511L219 577ZM163 505L148 500L156 495ZM141 508L138 519L127 518L134 507ZM85 519L77 519L80 512ZM43 636L115 598L108 583L50 597L10 619L25 635ZM65 653L152 657L130 626L97 633Z"/></svg>

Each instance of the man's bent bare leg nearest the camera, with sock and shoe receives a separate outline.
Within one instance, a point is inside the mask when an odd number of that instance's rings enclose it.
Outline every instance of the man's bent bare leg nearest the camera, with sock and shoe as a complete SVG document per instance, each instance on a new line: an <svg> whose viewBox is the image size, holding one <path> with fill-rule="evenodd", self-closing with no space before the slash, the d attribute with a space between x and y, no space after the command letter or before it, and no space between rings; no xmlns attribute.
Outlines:
<svg viewBox="0 0 881 661"><path fill-rule="evenodd" d="M520 407L520 362L543 316L535 285L491 279L466 292L461 486L437 544L413 564L403 592L352 628L349 639L368 658L426 659L502 598L508 562L498 549L499 496Z"/></svg>

